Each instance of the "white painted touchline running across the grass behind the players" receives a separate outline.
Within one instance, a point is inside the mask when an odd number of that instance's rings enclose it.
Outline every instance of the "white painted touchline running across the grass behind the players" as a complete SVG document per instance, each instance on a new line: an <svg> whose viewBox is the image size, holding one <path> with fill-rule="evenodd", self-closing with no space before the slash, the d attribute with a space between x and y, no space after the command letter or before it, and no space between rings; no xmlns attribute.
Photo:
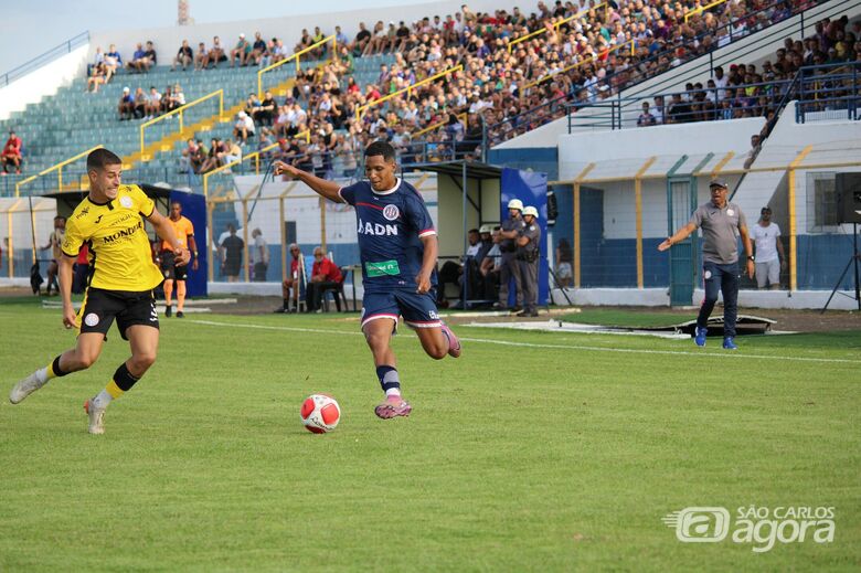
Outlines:
<svg viewBox="0 0 861 573"><path fill-rule="evenodd" d="M252 328L257 330L278 330L283 332L313 332L319 335L346 335L346 336L363 336L361 332L348 332L344 330L328 330L323 328L298 328L298 327L273 327L266 325L248 325L243 322L215 322L213 320L187 320L185 322L193 322L196 325L206 325L213 327L234 327L234 328ZM520 347L520 348L544 348L550 350L585 350L589 352L621 352L627 354L669 354L669 356L683 356L683 357L710 357L710 358L755 358L757 360L782 360L788 362L826 362L826 363L839 363L839 364L861 364L861 360L849 360L843 358L805 358L805 357L786 357L786 356L766 356L766 354L740 354L737 352L690 352L687 350L644 350L634 348L606 348L606 347L587 347L581 344L539 344L535 342L513 342L509 340L493 340L490 338L465 338L459 337L464 342L480 342L483 344L499 344L506 347Z"/></svg>

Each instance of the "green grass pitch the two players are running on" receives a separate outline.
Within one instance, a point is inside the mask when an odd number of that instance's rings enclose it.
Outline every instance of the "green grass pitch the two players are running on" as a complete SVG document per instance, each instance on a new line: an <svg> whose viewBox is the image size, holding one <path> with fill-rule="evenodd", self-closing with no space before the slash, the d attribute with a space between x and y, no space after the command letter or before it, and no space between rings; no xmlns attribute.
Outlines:
<svg viewBox="0 0 861 573"><path fill-rule="evenodd" d="M159 360L86 433L128 354L22 404L74 343L0 300L0 571L858 571L861 332L738 340L457 327L459 360L394 347L415 411L378 420L354 318L162 318ZM334 395L312 435L302 399ZM683 543L687 507L832 507L830 543Z"/></svg>

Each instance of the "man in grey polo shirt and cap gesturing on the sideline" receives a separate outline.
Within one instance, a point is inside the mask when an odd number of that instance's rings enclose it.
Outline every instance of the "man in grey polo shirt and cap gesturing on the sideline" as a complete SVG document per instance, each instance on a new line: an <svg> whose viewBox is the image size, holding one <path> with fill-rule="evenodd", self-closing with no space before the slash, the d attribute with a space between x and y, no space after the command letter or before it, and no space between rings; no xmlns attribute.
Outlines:
<svg viewBox="0 0 861 573"><path fill-rule="evenodd" d="M723 348L736 350L735 319L738 314L738 236L742 237L747 255L747 276L754 277L754 257L747 222L744 213L735 203L727 200L726 182L715 179L709 183L712 200L700 205L691 215L688 224L658 245L658 251L667 251L680 241L702 229L702 270L705 282L705 298L697 317L697 332L693 340L697 346L705 346L709 315L718 301L718 291L723 294Z"/></svg>

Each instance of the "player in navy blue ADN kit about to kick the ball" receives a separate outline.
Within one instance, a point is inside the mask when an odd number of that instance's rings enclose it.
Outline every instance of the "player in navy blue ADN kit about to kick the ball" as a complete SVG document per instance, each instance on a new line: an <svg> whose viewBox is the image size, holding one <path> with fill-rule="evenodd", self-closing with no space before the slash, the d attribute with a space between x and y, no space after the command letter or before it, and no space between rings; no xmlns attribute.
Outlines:
<svg viewBox="0 0 861 573"><path fill-rule="evenodd" d="M395 177L395 151L384 141L364 150L366 181L342 188L281 161L275 174L299 179L318 194L355 208L362 263L362 332L371 348L385 400L374 412L382 418L408 416L413 407L401 396L391 347L398 316L415 329L427 356L460 356L460 341L439 319L436 308L436 231L418 191Z"/></svg>

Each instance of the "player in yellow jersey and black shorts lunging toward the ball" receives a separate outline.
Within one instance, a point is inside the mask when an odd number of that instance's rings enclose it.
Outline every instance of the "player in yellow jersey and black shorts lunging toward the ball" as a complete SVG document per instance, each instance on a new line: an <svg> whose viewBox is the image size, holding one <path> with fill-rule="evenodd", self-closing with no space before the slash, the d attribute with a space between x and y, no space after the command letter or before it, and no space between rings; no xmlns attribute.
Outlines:
<svg viewBox="0 0 861 573"><path fill-rule="evenodd" d="M190 253L177 238L173 226L155 202L134 184L120 183L123 161L107 149L87 157L89 194L66 222L63 257L60 259L60 293L63 325L78 330L75 348L57 356L20 381L9 394L18 404L50 380L93 365L102 352L107 331L116 319L120 336L129 341L131 358L123 362L107 386L84 403L89 433L104 434L108 404L131 389L156 361L159 318L152 289L161 280L152 263L144 220L159 237L173 245L178 263L188 264ZM72 266L84 244L89 246L89 284L81 310L72 307Z"/></svg>

